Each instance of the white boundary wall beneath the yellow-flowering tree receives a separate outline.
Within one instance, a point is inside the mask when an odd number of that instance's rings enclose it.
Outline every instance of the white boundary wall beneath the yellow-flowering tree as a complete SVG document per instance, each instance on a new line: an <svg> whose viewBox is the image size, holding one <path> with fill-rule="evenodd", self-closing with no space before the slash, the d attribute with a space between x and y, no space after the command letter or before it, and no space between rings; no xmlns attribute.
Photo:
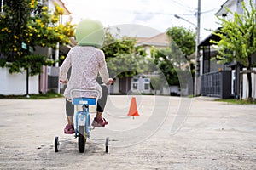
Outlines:
<svg viewBox="0 0 256 170"><path fill-rule="evenodd" d="M38 76L29 77L29 94L39 93L38 80ZM23 73L9 74L8 68L0 68L0 94L26 94L26 71Z"/></svg>

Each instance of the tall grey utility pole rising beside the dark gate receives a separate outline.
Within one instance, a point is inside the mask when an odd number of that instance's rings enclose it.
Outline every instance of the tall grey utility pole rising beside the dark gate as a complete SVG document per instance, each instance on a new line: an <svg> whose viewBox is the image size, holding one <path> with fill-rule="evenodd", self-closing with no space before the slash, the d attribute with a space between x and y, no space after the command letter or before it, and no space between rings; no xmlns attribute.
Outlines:
<svg viewBox="0 0 256 170"><path fill-rule="evenodd" d="M200 50L198 48L198 45L200 43L200 19L201 19L201 0L198 0L198 5L197 5L197 13L196 13L196 47L195 47L195 84L194 84L194 95L197 95L197 82L198 82L198 77L200 75Z"/></svg>

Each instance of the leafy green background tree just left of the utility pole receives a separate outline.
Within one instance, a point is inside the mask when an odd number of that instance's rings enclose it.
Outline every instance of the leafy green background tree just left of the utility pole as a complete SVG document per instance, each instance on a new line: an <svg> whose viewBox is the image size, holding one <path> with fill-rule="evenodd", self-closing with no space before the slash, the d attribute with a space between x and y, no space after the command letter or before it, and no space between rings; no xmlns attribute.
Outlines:
<svg viewBox="0 0 256 170"><path fill-rule="evenodd" d="M160 68L169 85L186 85L191 73L184 67L187 57L195 51L195 33L183 27L168 28L169 48L156 49L151 52L154 63ZM184 88L184 87L183 87Z"/></svg>

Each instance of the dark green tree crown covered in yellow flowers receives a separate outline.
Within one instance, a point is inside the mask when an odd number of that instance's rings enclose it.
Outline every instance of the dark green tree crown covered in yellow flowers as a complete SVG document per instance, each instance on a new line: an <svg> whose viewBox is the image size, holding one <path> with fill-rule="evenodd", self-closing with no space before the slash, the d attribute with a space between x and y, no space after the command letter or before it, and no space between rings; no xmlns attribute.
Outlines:
<svg viewBox="0 0 256 170"><path fill-rule="evenodd" d="M66 44L74 36L70 22L59 24L63 9L55 3L55 11L36 0L6 0L0 16L0 66L9 72L21 72L30 68L30 75L41 71L42 65L54 61L44 55L31 52L36 46L55 48L57 42Z"/></svg>

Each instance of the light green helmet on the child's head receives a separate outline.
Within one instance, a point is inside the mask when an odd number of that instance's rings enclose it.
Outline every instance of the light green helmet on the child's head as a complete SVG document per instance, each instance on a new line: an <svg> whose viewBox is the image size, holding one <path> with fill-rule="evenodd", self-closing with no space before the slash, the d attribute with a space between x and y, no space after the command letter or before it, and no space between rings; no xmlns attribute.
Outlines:
<svg viewBox="0 0 256 170"><path fill-rule="evenodd" d="M76 28L76 39L79 46L102 48L105 31L98 20L81 20Z"/></svg>

